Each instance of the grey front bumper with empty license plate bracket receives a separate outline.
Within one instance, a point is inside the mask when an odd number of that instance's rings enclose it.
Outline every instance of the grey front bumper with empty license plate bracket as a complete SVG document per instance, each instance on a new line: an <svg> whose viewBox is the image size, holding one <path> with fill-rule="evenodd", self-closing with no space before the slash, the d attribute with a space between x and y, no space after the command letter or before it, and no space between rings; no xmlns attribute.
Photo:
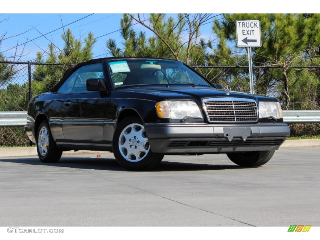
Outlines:
<svg viewBox="0 0 320 240"><path fill-rule="evenodd" d="M144 124L151 150L203 154L277 150L288 124Z"/></svg>

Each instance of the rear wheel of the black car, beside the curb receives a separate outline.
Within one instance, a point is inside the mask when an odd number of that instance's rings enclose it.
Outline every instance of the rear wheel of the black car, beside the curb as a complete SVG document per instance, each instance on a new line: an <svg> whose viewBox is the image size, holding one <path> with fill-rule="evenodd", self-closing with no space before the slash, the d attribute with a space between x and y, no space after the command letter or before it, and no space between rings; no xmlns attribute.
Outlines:
<svg viewBox="0 0 320 240"><path fill-rule="evenodd" d="M60 160L62 150L58 148L52 138L48 121L40 123L36 135L37 153L41 162L56 163Z"/></svg>

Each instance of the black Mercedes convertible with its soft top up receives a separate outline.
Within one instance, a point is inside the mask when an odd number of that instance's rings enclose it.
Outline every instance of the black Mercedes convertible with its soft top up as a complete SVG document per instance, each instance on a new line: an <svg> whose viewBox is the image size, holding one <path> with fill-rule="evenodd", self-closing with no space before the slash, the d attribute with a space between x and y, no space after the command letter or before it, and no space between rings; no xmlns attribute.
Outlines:
<svg viewBox="0 0 320 240"><path fill-rule="evenodd" d="M225 91L179 61L153 58L76 65L30 100L27 122L42 162L103 150L130 170L155 167L166 154L226 153L260 166L290 134L276 99Z"/></svg>

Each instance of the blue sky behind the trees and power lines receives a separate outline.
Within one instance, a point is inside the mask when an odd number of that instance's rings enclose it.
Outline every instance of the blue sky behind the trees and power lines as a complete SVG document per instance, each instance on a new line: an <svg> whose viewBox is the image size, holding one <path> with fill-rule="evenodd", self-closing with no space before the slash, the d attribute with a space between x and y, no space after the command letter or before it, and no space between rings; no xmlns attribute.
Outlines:
<svg viewBox="0 0 320 240"><path fill-rule="evenodd" d="M175 14L168 14L175 16ZM214 14L217 15L217 14ZM145 15L147 17L147 15ZM221 15L217 18L221 19ZM83 19L82 19L83 18ZM108 49L106 48L106 41L112 37L116 39L118 46L121 46L122 39L120 38L120 31L117 31L120 28L120 19L122 18L122 14L120 13L108 13L101 14L95 13L90 15L88 14L79 14L79 13L58 13L58 14L2 14L0 15L1 22L1 32L0 34L4 34L6 32L6 37L10 37L5 39L0 45L0 52L5 57L10 57L15 55L16 48L15 46L18 44L22 44L18 47L18 54L21 54L23 51L23 56L21 56L20 60L29 61L34 60L36 58L36 52L44 52L48 48L48 44L53 42L59 48L63 47L63 42L61 40L61 34L63 34L62 26L65 26L74 21L79 21L72 23L65 27L65 30L70 28L72 30L73 35L82 40L87 36L88 32L92 32L95 37L99 37L97 39L96 44L93 47L93 57L105 57L106 52L108 54ZM205 39L208 39L209 36L212 35L212 21L206 25L204 25L201 29L202 35ZM140 24L136 24L133 26L134 29L138 32L140 30L145 31L147 36L151 36L151 32ZM58 29L61 28L61 29ZM55 29L58 29L48 35L41 36L42 34L49 33ZM27 32L26 32L27 31ZM23 33L25 32L25 33ZM20 33L23 33L19 36ZM107 35L106 35L107 34ZM105 35L105 36L103 36ZM41 37L39 37L41 36ZM37 38L39 37L39 38ZM35 39L37 38L37 39ZM35 39L33 41L30 41ZM24 44L25 42L28 43ZM12 49L11 49L12 48ZM103 54L102 56L99 56ZM108 54L108 56L111 56ZM12 59L10 59L12 60Z"/></svg>

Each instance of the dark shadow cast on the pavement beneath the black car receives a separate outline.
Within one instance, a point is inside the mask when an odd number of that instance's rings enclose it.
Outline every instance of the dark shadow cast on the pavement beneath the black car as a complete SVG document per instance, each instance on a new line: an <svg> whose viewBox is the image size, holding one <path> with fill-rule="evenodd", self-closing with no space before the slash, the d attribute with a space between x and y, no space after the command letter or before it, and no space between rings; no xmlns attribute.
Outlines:
<svg viewBox="0 0 320 240"><path fill-rule="evenodd" d="M18 163L20 165L43 165L56 167L69 167L77 169L94 169L107 171L126 172L114 158L88 158L88 157L62 157L58 163L42 163L39 158L8 158L0 159L0 162ZM208 171L208 170L228 170L243 169L252 167L240 167L229 164L201 164L188 162L169 162L162 161L155 169L148 172L179 172L179 171Z"/></svg>

